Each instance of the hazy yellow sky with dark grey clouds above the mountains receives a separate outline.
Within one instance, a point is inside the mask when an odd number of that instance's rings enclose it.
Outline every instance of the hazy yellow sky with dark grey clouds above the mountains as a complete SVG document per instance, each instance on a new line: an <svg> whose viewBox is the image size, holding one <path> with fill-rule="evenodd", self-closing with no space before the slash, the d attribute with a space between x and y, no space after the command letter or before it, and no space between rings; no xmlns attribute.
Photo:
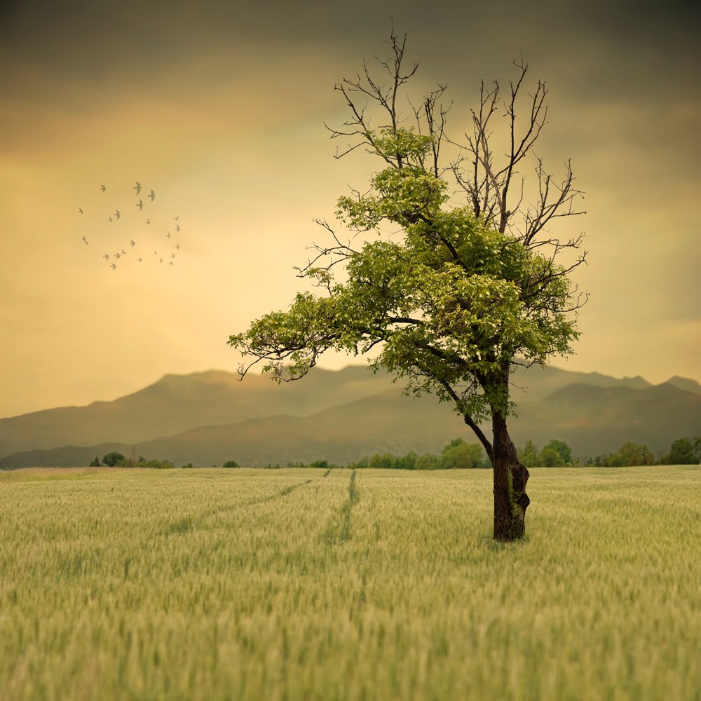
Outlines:
<svg viewBox="0 0 701 701"><path fill-rule="evenodd" d="M701 380L698 4L10 0L0 416L235 371L229 334L290 304L324 240L313 219L379 169L334 158L325 124L343 125L334 86L388 55L392 24L420 64L414 100L447 83L456 139L479 81L508 81L520 53L547 82L538 155L556 175L571 159L587 210L553 233L585 231L589 252L582 336L554 365Z"/></svg>

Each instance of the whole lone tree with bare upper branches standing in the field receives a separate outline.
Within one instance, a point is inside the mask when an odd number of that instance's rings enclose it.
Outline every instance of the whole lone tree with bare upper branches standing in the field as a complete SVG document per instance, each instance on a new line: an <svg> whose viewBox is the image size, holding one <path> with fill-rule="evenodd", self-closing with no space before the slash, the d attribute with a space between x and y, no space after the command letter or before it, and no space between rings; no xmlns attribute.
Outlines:
<svg viewBox="0 0 701 701"><path fill-rule="evenodd" d="M364 63L336 86L350 112L343 128L329 128L332 138L348 141L336 158L365 148L382 169L369 189L338 200L347 240L317 221L328 243L314 244L313 257L296 269L318 293L300 292L287 311L252 322L229 345L254 359L240 367L242 378L262 361L277 381L301 378L329 349L374 351L372 367L405 379L407 394L452 402L494 470L494 538L515 540L524 535L530 500L529 472L507 429L510 375L516 365L571 353L578 338L573 312L585 296L569 273L585 261L583 234L555 238L547 227L583 213L575 207L580 191L569 161L554 179L533 156L547 89L538 81L526 90L522 58L508 90L482 83L460 142L447 137L445 85L418 107L404 102L418 69L404 68L406 41L390 34L390 58L378 59L381 77ZM501 116L505 154L492 132ZM522 174L526 157L533 158L530 178ZM491 440L480 428L490 420Z"/></svg>

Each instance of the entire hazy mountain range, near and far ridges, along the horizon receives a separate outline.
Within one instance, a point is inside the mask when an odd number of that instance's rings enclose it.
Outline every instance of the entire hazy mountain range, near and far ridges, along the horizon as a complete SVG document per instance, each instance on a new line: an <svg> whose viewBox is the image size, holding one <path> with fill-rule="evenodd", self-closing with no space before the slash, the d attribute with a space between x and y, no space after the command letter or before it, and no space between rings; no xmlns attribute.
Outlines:
<svg viewBox="0 0 701 701"><path fill-rule="evenodd" d="M630 440L660 453L701 433L694 380L653 386L639 376L533 367L519 368L513 385L510 433L519 445L557 438L594 456ZM448 404L405 397L401 383L365 366L315 368L280 385L211 370L166 375L112 402L0 419L0 468L87 465L111 450L176 465L346 464L375 452L437 452L460 436L476 441Z"/></svg>

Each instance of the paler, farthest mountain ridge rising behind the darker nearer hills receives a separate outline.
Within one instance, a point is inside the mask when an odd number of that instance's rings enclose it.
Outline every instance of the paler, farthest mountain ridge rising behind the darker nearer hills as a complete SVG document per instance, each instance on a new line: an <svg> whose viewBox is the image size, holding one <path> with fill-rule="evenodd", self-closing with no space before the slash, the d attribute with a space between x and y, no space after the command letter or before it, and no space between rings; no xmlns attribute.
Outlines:
<svg viewBox="0 0 701 701"><path fill-rule="evenodd" d="M695 391L695 386L701 393L701 386L693 380L673 378L671 382L688 391ZM519 368L513 378L513 397L521 406L542 400L571 383L602 388L650 387L641 377L615 379L554 367ZM256 374L247 375L241 382L237 374L222 370L166 375L112 402L2 418L0 458L19 451L65 445L80 447L106 442L133 445L200 426L226 426L279 414L309 416L397 386L401 383L393 385L386 373L372 374L362 365L351 365L337 372L315 368L301 381L281 385Z"/></svg>

